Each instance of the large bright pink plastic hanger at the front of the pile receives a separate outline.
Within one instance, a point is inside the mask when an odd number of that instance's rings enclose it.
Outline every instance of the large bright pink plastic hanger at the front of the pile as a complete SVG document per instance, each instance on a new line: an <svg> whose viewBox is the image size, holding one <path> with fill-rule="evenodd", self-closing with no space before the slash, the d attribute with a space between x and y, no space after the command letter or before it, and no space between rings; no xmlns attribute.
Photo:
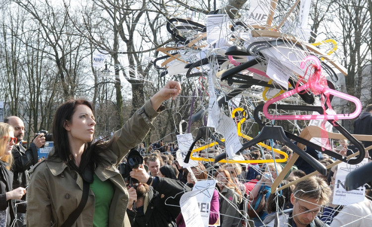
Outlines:
<svg viewBox="0 0 372 227"><path fill-rule="evenodd" d="M315 63L315 66L317 67L318 70L321 70L321 66L320 66L320 62L319 60L315 57L315 56L307 56L304 60L304 62L301 63L301 68L304 69L305 68L305 63L307 61L313 61ZM353 119L353 118L356 118L359 116L359 114L361 113L362 111L362 103L361 101L354 97L354 96L351 96L351 95L348 95L348 94L345 94L345 93L342 93L340 91L336 91L336 90L333 90L333 89L330 89L328 87L324 87L324 86L321 86L319 84L319 80L320 80L320 75L317 76L315 78L315 81L313 82L307 82L306 84L296 88L296 89L293 89L293 90L290 90L290 91L287 91L275 98L272 98L270 100L268 100L264 105L263 105L263 114L265 115L266 118L270 119L270 120L323 120L323 119L334 119L334 120L338 120L338 119ZM351 101L355 104L356 106L356 109L353 113L351 114L327 114L327 115L278 115L278 116L275 116L275 115L270 115L268 112L267 112L267 107L276 102L276 101L279 101L281 99L284 99L284 98L287 98L293 94L296 94L300 91L303 91L305 89L308 89L308 88L313 88L313 89L316 89L316 90L319 90L321 91L322 95L324 93L329 93L329 94L332 94L334 96L337 96L337 97L340 97L340 98L343 98L343 99L346 99L348 101Z"/></svg>

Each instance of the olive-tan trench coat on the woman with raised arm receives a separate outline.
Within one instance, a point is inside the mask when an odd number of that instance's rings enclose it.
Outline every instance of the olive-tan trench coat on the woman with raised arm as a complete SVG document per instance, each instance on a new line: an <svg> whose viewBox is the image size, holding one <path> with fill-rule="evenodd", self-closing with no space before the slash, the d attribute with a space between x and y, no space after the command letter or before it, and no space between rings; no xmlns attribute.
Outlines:
<svg viewBox="0 0 372 227"><path fill-rule="evenodd" d="M150 128L154 129L152 121L157 114L148 100L122 129L114 133L116 142L113 143L112 149L105 153L104 164L97 166L94 171L102 181L109 179L115 186L109 213L109 227L130 227L126 214L128 191L116 165L131 148L143 140ZM27 227L60 227L80 203L82 178L61 160L45 160L35 165L30 172L31 182L27 189ZM94 205L95 196L90 190L84 210L72 227L93 227Z"/></svg>

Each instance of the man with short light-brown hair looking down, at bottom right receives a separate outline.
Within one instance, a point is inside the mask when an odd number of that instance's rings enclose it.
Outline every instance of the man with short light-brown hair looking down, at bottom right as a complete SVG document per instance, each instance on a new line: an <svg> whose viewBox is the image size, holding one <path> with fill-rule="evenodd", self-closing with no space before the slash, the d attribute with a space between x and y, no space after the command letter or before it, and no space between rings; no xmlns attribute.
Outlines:
<svg viewBox="0 0 372 227"><path fill-rule="evenodd" d="M296 184L291 195L293 209L279 211L280 227L329 227L317 218L322 206L329 201L331 190L317 176L311 176ZM279 208L280 209L280 208ZM275 225L275 213L266 216L265 226Z"/></svg>

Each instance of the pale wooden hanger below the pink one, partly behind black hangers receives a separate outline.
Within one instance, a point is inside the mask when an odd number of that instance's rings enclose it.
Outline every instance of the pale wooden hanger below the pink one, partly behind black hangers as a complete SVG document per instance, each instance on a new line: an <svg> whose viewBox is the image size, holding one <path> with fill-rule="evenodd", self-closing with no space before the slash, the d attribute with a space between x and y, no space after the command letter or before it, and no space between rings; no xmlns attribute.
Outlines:
<svg viewBox="0 0 372 227"><path fill-rule="evenodd" d="M304 138L306 140L310 140L311 138L321 138L321 130L322 129L319 126L310 125L310 126L306 127L301 132L300 137ZM352 135L352 136L354 136L357 140L360 140L360 141L372 141L372 136L370 136L370 135ZM338 139L338 140L347 139L344 135L342 135L340 133L332 133L332 132L328 132L328 138L329 139ZM297 144L297 147L299 147L302 150L305 149L305 145L300 144L300 143ZM369 147L369 148L371 149L371 147ZM366 151L367 151L367 149L366 149ZM359 154L359 151L352 154L352 155L349 155L347 157L347 159L350 159L350 157L355 157L358 154ZM298 157L299 157L299 155L297 153L293 153L292 157L288 160L287 164L284 166L284 168L280 172L279 176L275 179L275 181L271 185L271 191L273 193L275 192L276 188L279 186L280 182L287 175L289 170L291 170L291 167L295 164Z"/></svg>

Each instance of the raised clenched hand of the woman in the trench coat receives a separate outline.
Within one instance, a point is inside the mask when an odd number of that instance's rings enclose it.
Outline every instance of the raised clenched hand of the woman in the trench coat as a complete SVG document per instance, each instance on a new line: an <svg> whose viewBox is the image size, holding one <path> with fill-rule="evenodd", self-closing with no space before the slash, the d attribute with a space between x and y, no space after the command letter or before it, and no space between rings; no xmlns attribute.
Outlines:
<svg viewBox="0 0 372 227"><path fill-rule="evenodd" d="M154 96L151 97L151 105L157 110L163 101L176 97L181 93L181 84L178 81L169 80Z"/></svg>

